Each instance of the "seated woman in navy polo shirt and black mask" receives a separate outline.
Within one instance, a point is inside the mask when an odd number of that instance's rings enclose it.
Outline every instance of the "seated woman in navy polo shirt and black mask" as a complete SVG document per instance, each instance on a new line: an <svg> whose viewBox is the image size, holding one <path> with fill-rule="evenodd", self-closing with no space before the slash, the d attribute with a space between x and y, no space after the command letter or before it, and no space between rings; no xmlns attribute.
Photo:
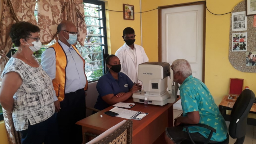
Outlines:
<svg viewBox="0 0 256 144"><path fill-rule="evenodd" d="M113 54L105 54L104 59L109 71L100 77L96 86L100 95L94 108L99 110L118 102L124 102L141 89L141 85L133 84L127 75L120 72L121 64L118 57Z"/></svg>

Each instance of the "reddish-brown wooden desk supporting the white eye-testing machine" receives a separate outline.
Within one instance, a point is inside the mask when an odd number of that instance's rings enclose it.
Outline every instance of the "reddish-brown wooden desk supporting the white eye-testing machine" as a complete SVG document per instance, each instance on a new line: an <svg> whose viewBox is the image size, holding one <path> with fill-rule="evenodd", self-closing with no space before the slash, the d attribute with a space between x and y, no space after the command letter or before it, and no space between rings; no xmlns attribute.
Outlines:
<svg viewBox="0 0 256 144"><path fill-rule="evenodd" d="M179 100L179 99L178 99ZM133 103L130 98L126 103ZM176 101L177 102L177 101ZM144 107L142 103L136 103L131 108L132 111L141 111L149 113L147 116L139 120L132 120L132 143L133 144L152 144L162 143L164 141L165 127L173 126L173 104L166 104L164 106L148 105ZM120 117L111 117L103 114L113 107L108 107L100 112L97 112L83 120L76 122L81 125L84 132L92 132L94 134L101 134L110 127L124 120ZM101 118L100 115L103 117ZM159 138L159 139L158 139ZM161 142L159 142L161 141Z"/></svg>

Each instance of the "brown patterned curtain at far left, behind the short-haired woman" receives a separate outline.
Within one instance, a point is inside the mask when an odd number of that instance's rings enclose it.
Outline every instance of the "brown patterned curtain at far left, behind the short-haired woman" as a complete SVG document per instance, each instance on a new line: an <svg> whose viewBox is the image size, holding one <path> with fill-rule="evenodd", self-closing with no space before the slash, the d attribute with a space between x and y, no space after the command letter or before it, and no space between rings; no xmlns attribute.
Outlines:
<svg viewBox="0 0 256 144"><path fill-rule="evenodd" d="M5 64L9 60L5 55L10 51L12 46L12 40L9 36L10 27L13 23L19 21L27 21L37 24L34 15L35 4L35 0L1 0L0 13L3 16L1 17L2 23L0 26L0 73L3 71ZM3 109L3 113L8 143L20 144L21 137L19 132L15 130L12 113L5 109Z"/></svg>

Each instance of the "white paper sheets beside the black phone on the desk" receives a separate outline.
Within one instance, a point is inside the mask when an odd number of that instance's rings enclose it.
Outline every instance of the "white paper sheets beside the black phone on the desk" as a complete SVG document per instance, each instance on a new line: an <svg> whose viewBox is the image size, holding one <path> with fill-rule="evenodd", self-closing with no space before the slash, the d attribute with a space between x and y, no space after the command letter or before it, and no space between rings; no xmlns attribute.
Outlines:
<svg viewBox="0 0 256 144"><path fill-rule="evenodd" d="M149 114L149 113L144 113L144 112L131 111L128 109L123 109L123 108L118 108L118 107L114 107L110 111L118 113L119 115L116 117L122 117L122 118L127 118L127 119L134 119L134 120L141 120L147 114Z"/></svg>

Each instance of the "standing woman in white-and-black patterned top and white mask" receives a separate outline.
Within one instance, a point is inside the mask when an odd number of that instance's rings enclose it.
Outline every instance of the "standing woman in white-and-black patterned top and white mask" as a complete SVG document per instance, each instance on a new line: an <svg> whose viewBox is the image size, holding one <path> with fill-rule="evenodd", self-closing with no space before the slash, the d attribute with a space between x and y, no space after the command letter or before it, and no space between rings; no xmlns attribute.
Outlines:
<svg viewBox="0 0 256 144"><path fill-rule="evenodd" d="M0 103L12 112L22 144L59 143L53 86L33 53L41 48L39 27L29 22L12 25L10 37L18 51L2 73Z"/></svg>

